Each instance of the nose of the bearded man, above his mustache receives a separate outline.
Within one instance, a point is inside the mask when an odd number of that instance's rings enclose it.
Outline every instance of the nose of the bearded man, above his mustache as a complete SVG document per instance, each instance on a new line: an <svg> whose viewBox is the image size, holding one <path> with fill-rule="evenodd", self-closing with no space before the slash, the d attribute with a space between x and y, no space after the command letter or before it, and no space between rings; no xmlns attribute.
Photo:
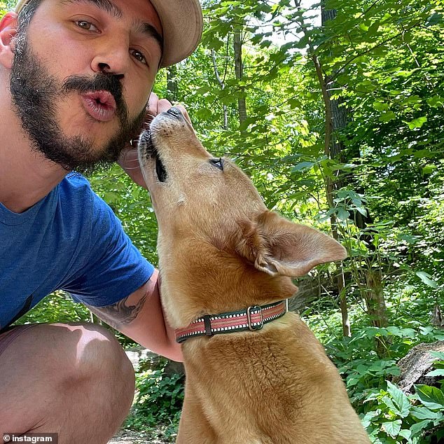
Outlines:
<svg viewBox="0 0 444 444"><path fill-rule="evenodd" d="M106 72L118 76L122 80L130 63L129 46L121 40L108 41L100 45L91 62L92 71Z"/></svg>

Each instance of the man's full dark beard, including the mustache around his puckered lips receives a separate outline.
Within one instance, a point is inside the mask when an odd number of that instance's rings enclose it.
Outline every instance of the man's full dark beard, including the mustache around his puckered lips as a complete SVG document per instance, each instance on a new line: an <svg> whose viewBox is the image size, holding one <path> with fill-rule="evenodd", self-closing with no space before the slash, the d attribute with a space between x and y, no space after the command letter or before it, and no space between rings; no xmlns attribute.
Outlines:
<svg viewBox="0 0 444 444"><path fill-rule="evenodd" d="M93 77L69 76L62 84L50 75L32 53L27 35L17 39L11 67L11 98L22 127L35 151L67 171L92 172L97 167L116 162L125 145L137 137L145 117L145 108L129 120L120 76L102 71ZM88 137L67 137L57 123L55 104L69 92L109 91L116 101L119 129L102 147L94 147Z"/></svg>

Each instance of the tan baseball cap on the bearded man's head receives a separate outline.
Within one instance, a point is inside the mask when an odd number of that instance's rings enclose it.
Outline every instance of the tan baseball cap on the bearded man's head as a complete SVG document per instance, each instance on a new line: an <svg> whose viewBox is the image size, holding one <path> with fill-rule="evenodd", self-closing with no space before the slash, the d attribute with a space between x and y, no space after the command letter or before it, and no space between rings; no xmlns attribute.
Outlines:
<svg viewBox="0 0 444 444"><path fill-rule="evenodd" d="M163 30L163 55L160 67L186 59L202 37L202 9L199 0L147 0L158 13ZM20 0L15 12L20 12L29 0Z"/></svg>

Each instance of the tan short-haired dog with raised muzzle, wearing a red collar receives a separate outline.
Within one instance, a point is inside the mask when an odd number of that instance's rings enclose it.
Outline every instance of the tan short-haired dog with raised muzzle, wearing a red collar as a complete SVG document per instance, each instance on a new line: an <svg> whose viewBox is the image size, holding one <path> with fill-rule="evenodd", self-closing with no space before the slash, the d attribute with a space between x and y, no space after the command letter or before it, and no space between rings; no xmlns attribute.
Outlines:
<svg viewBox="0 0 444 444"><path fill-rule="evenodd" d="M369 443L324 348L279 303L297 290L291 277L345 249L268 211L178 109L153 120L139 160L159 224L162 303L184 341L177 443Z"/></svg>

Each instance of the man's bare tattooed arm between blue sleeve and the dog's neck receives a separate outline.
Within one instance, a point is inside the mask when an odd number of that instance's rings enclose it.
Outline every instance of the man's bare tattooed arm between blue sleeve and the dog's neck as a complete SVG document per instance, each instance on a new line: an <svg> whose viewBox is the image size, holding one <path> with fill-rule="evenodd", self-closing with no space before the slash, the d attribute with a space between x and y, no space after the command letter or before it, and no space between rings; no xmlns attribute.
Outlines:
<svg viewBox="0 0 444 444"><path fill-rule="evenodd" d="M88 305L88 308L140 345L174 361L183 361L181 345L176 342L160 303L158 270L127 298L106 307Z"/></svg>

